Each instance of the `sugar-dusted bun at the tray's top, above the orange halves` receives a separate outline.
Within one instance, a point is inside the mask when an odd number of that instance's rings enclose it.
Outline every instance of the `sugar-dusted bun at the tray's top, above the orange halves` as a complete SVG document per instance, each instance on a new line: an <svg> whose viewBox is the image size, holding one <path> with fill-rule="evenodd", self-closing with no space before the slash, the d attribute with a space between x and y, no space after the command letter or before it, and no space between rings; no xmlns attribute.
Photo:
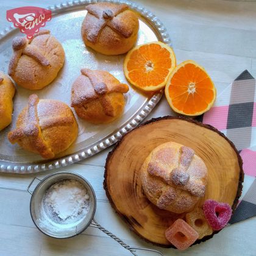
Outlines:
<svg viewBox="0 0 256 256"><path fill-rule="evenodd" d="M86 7L82 38L87 46L106 55L124 54L137 41L138 17L126 4L98 2Z"/></svg>

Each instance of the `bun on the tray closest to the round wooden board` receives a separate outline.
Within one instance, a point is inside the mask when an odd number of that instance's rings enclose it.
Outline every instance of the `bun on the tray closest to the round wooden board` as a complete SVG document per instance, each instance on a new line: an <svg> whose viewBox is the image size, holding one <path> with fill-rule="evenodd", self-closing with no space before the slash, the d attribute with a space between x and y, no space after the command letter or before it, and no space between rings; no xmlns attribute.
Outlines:
<svg viewBox="0 0 256 256"><path fill-rule="evenodd" d="M123 93L129 87L107 71L81 69L71 93L71 106L80 118L92 123L108 123L121 115Z"/></svg>

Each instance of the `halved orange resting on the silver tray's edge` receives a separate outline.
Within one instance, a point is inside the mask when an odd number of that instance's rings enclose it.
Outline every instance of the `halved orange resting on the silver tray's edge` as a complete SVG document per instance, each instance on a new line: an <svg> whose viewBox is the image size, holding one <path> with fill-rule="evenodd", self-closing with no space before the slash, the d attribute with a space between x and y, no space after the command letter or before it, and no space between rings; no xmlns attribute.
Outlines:
<svg viewBox="0 0 256 256"><path fill-rule="evenodd" d="M143 91L157 91L165 87L176 66L174 51L165 43L155 41L130 50L124 60L127 80Z"/></svg>

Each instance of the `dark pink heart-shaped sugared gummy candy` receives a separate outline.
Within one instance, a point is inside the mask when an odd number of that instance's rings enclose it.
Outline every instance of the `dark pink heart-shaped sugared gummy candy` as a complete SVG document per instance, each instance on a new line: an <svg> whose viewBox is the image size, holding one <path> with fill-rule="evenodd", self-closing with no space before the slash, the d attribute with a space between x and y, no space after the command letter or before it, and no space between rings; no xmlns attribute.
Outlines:
<svg viewBox="0 0 256 256"><path fill-rule="evenodd" d="M213 230L221 230L227 225L232 215L229 204L208 199L204 202L204 216Z"/></svg>

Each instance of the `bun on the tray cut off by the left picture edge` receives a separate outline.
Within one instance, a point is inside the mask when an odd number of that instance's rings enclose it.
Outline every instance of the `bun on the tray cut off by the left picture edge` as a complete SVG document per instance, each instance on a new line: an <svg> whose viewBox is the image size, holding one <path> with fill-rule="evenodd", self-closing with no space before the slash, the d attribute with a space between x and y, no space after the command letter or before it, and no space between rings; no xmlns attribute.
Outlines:
<svg viewBox="0 0 256 256"><path fill-rule="evenodd" d="M12 122L14 94L15 86L12 80L0 71L0 130Z"/></svg>

